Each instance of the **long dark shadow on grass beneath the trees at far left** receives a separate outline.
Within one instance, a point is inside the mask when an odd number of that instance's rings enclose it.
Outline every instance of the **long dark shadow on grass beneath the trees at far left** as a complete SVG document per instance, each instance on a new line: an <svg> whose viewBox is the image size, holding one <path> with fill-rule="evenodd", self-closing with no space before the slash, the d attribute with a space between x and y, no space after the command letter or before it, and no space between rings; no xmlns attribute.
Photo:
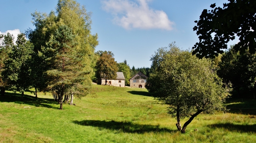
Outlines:
<svg viewBox="0 0 256 143"><path fill-rule="evenodd" d="M49 104L54 104L54 105L58 104L53 99L35 98L33 96L24 95L23 101L21 101L21 94L19 94L19 93L5 92L5 96L0 96L0 102L14 102L17 104L28 104L28 105L35 106L35 107L46 107L46 108L58 109L58 107L49 105Z"/></svg>

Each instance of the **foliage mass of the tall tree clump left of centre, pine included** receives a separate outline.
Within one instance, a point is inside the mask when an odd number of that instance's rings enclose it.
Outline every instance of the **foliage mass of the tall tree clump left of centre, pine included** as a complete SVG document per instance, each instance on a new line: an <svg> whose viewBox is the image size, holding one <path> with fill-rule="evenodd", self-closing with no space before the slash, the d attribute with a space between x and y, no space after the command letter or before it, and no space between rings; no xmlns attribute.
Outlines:
<svg viewBox="0 0 256 143"><path fill-rule="evenodd" d="M74 93L78 98L89 93L97 58L94 50L98 45L97 34L90 33L90 15L74 0L59 0L56 13L32 14L35 29L26 33L35 45L33 58L38 61L33 63L38 68L32 72L33 77L39 77L34 80L35 88L58 91L58 95L65 96ZM65 90L60 90L64 84Z"/></svg>

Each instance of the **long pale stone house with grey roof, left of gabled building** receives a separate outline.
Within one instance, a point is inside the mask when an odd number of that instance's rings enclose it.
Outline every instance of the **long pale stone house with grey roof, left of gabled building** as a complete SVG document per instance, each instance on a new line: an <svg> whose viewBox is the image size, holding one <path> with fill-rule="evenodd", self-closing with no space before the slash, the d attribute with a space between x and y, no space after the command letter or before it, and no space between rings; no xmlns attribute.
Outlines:
<svg viewBox="0 0 256 143"><path fill-rule="evenodd" d="M116 72L117 77L115 80L107 80L107 85L113 85L117 87L125 87L125 78L123 72ZM98 79L97 84L105 85L106 79Z"/></svg>

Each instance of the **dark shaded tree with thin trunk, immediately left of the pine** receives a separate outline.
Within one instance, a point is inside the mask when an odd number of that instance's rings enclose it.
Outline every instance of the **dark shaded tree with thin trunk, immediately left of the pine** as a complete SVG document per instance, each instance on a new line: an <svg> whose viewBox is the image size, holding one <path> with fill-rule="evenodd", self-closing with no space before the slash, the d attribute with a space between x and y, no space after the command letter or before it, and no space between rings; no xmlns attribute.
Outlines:
<svg viewBox="0 0 256 143"><path fill-rule="evenodd" d="M31 63L31 81L32 87L35 88L35 97L37 97L37 91L44 91L47 87L46 71L49 67L46 65L45 55L42 54L42 47L46 47L50 35L56 30L56 16L53 11L49 15L36 11L31 15L35 29L28 29L26 36L34 45L33 60Z"/></svg>

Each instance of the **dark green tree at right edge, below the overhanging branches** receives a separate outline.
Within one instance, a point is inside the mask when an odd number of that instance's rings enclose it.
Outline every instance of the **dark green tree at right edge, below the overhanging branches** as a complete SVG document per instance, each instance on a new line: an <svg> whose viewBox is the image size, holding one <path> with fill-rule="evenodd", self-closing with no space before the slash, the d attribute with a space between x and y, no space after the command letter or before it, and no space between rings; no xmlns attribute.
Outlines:
<svg viewBox="0 0 256 143"><path fill-rule="evenodd" d="M255 92L256 81L256 54L236 52L234 46L222 54L221 62L218 64L218 76L223 82L230 81L240 96L240 88ZM255 95L255 94L254 94Z"/></svg>

